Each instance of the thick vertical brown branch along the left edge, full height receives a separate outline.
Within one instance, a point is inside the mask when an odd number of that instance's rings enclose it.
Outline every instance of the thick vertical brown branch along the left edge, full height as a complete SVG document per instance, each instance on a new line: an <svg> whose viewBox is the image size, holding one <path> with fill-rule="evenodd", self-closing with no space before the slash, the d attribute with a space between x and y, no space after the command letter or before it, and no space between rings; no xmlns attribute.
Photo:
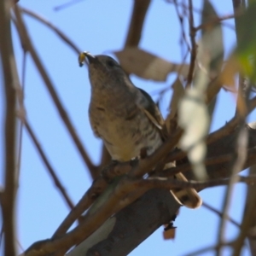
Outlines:
<svg viewBox="0 0 256 256"><path fill-rule="evenodd" d="M2 67L2 84L5 96L5 124L4 124L4 189L1 192L4 249L6 256L15 256L15 87L19 84L19 76L15 65L15 55L10 29L10 1L0 2L0 52Z"/></svg>

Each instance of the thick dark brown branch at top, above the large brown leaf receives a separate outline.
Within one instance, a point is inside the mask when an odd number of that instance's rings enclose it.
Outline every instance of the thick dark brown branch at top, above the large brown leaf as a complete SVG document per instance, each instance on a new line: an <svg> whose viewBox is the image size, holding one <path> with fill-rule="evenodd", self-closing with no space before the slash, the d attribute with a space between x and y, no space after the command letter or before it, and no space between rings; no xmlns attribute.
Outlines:
<svg viewBox="0 0 256 256"><path fill-rule="evenodd" d="M125 47L137 46L139 44L149 3L150 0L134 0L129 31L125 40Z"/></svg>

